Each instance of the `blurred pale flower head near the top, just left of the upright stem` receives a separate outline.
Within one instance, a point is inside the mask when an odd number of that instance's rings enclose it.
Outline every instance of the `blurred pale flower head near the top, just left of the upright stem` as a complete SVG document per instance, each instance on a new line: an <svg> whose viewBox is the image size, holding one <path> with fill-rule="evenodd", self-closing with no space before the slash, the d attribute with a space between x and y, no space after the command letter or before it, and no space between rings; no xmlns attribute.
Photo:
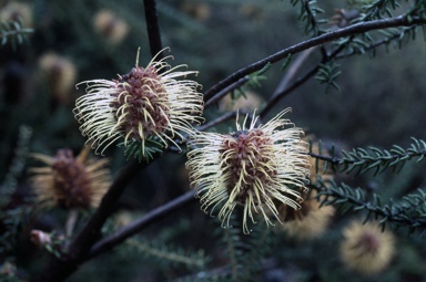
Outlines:
<svg viewBox="0 0 426 282"><path fill-rule="evenodd" d="M122 42L129 32L128 23L109 10L101 10L94 15L93 27L112 44Z"/></svg>

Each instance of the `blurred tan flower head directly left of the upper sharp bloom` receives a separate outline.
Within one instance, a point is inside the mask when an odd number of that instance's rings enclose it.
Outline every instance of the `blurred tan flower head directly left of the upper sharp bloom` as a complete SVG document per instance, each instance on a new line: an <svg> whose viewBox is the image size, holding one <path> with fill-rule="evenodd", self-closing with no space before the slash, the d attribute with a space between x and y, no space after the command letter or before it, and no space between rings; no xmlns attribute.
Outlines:
<svg viewBox="0 0 426 282"><path fill-rule="evenodd" d="M42 55L39 64L48 79L54 97L61 103L67 103L69 92L75 83L77 72L74 64L70 60L54 53Z"/></svg>

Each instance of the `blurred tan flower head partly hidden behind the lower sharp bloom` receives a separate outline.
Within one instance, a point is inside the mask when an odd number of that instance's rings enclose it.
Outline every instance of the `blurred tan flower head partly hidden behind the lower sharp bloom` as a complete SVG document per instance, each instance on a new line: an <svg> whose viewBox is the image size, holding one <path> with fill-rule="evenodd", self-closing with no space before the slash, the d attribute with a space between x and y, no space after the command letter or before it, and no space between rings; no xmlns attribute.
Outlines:
<svg viewBox="0 0 426 282"><path fill-rule="evenodd" d="M320 237L327 230L329 220L334 215L334 208L332 206L320 207L320 201L315 195L316 192L312 191L310 198L301 203L298 210L291 209L286 205L280 206L280 219L288 236L305 240Z"/></svg>

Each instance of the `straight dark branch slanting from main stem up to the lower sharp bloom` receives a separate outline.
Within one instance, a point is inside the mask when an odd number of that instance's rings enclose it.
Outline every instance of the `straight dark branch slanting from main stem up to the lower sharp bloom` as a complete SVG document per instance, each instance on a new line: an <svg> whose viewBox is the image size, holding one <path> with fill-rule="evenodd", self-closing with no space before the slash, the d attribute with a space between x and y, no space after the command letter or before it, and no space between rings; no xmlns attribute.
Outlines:
<svg viewBox="0 0 426 282"><path fill-rule="evenodd" d="M129 226L122 228L121 230L116 231L112 236L104 238L97 242L93 248L88 253L87 260L92 259L93 257L103 253L105 251L111 250L113 247L120 244L129 237L132 237L136 233L139 233L141 230L146 228L148 226L158 222L159 220L163 219L164 217L169 216L171 212L175 212L178 209L191 203L192 201L195 201L194 191L191 190L180 197L178 197L174 200L171 200L166 202L163 206L158 207L156 209L152 210L148 215L144 215L140 219L135 220L134 222L130 223Z"/></svg>

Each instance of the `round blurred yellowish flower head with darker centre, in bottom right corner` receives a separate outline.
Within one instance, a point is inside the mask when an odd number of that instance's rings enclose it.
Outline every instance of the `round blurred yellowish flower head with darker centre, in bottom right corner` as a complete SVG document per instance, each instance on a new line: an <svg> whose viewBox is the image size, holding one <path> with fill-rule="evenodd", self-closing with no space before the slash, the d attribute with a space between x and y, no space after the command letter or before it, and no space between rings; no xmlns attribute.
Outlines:
<svg viewBox="0 0 426 282"><path fill-rule="evenodd" d="M384 270L394 254L395 239L375 221L353 221L343 230L341 255L347 268L363 274Z"/></svg>

